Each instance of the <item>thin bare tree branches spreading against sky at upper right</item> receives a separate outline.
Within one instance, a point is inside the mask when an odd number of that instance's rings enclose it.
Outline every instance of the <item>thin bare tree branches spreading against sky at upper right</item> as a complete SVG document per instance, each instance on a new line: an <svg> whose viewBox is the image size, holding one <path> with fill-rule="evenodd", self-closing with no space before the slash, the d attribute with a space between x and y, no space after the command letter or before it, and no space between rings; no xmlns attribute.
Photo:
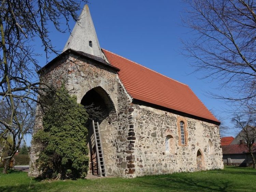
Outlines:
<svg viewBox="0 0 256 192"><path fill-rule="evenodd" d="M193 38L183 41L184 54L196 70L219 82L216 98L255 108L256 1L185 0L185 26Z"/></svg>

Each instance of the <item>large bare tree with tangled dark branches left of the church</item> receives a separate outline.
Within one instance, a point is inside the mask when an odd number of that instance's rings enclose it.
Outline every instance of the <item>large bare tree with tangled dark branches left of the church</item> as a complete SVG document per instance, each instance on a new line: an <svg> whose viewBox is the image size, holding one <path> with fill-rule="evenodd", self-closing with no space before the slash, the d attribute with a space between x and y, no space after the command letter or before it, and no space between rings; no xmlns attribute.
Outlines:
<svg viewBox="0 0 256 192"><path fill-rule="evenodd" d="M48 24L52 23L59 32L70 31L68 21L79 19L76 11L81 9L81 2L87 1L0 1L0 100L9 107L8 118L0 119L4 127L0 138L10 133L17 141L6 161L13 157L15 149L19 147L19 136L23 137L23 134L16 132L24 129L23 112L19 111L18 105L25 103L32 109L31 101L37 102L38 94L51 88L39 81L37 71L40 66L36 58L41 53L33 49L33 40L41 40L46 58L49 53L58 54L49 39ZM61 27L60 19L65 20L66 27Z"/></svg>

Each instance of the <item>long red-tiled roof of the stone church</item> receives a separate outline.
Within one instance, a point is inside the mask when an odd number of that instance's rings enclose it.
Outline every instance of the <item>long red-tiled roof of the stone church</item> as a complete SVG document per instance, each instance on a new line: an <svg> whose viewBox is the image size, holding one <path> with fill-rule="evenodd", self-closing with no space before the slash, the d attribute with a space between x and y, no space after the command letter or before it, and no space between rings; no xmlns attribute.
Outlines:
<svg viewBox="0 0 256 192"><path fill-rule="evenodd" d="M219 123L185 84L103 49L133 99Z"/></svg>

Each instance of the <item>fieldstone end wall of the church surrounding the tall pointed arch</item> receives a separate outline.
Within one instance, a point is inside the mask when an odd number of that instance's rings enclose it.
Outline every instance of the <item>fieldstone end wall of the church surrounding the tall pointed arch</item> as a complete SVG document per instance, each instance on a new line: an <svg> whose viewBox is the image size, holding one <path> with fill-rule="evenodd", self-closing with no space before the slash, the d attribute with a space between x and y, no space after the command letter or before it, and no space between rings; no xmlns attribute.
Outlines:
<svg viewBox="0 0 256 192"><path fill-rule="evenodd" d="M126 159L131 98L115 71L75 55L69 59L73 62L69 63L67 88L75 92L78 103L95 87L103 88L113 102L115 111L99 125L105 166L108 176L130 177Z"/></svg>

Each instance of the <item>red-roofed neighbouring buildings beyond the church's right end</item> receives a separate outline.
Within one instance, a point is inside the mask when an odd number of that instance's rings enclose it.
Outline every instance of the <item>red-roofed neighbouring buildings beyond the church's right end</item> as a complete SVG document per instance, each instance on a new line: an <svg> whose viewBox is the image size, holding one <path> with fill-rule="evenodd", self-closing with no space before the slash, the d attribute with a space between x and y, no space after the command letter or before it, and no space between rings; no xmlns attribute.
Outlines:
<svg viewBox="0 0 256 192"><path fill-rule="evenodd" d="M246 131L245 131L246 130ZM254 142L255 127L246 125L235 138L222 137L221 148L223 152L223 163L225 165L251 166L252 158L246 145L246 133L250 141ZM256 144L254 144L254 156L256 158Z"/></svg>

